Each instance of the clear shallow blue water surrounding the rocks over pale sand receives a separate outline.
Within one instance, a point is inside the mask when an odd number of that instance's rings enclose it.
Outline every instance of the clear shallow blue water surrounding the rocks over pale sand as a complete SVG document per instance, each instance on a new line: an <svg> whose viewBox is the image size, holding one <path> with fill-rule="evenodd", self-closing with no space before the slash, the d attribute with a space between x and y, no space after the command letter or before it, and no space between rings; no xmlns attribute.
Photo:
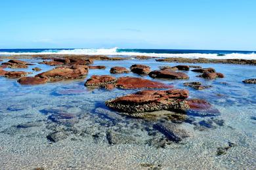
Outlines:
<svg viewBox="0 0 256 170"><path fill-rule="evenodd" d="M39 65L37 59L24 59L47 71L53 67ZM90 70L91 75L108 75L113 66L129 68L134 63L159 66L177 63L161 63L154 59L127 61L95 61L105 65L105 70ZM188 64L192 65L192 64ZM190 91L191 98L206 99L221 114L214 118L224 120L223 126L204 128L194 124L179 124L190 133L182 143L170 143L165 148L147 141L163 137L156 133L152 138L148 129L159 120L129 118L108 110L104 101L137 92L137 90L91 90L84 86L85 79L49 83L37 86L21 86L16 79L0 77L0 165L1 169L147 169L142 163L151 163L160 169L255 169L256 167L256 86L242 80L256 77L256 67L250 65L194 64L214 67L225 78L204 80L198 73L186 71L189 81L200 81L213 88L193 90L183 86L187 80L156 80L173 84L175 88ZM13 69L10 69L13 70ZM33 72L35 75L39 72ZM114 76L138 76L133 73ZM152 80L149 76L143 76ZM223 84L226 82L227 84ZM72 126L49 119L49 110L58 109L76 115ZM99 111L99 110L103 111ZM106 113L106 114L105 114ZM195 122L211 117L190 116ZM18 128L32 122L33 127ZM36 125L36 126L35 126ZM106 131L132 135L138 144L108 144ZM66 131L66 139L56 143L47 140L53 131ZM235 143L225 155L217 156L217 148Z"/></svg>

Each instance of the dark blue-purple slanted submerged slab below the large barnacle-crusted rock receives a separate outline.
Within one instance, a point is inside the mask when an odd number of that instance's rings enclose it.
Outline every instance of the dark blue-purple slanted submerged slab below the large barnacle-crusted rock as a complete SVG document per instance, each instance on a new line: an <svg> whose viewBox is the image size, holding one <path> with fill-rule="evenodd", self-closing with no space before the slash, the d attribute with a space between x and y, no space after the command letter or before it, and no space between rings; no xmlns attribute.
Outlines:
<svg viewBox="0 0 256 170"><path fill-rule="evenodd" d="M158 123L153 126L155 129L163 133L167 139L179 143L182 139L189 137L188 132L179 128L177 124L172 122Z"/></svg>

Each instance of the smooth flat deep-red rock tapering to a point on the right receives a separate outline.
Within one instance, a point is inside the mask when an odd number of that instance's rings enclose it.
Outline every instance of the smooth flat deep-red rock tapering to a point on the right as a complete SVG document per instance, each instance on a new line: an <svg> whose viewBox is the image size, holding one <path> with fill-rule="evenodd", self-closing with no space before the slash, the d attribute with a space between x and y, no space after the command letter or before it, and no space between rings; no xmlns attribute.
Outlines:
<svg viewBox="0 0 256 170"><path fill-rule="evenodd" d="M116 82L117 88L124 89L137 89L137 88L173 88L171 85L163 84L161 82L154 82L152 80L146 80L137 77L120 77Z"/></svg>

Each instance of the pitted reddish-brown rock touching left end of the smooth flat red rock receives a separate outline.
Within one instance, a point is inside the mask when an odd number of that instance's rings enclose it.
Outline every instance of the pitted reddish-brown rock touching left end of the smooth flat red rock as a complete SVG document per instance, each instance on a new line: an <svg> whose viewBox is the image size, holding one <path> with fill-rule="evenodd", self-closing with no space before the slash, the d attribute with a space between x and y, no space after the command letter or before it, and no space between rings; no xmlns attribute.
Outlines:
<svg viewBox="0 0 256 170"><path fill-rule="evenodd" d="M91 78L86 80L85 86L100 86L104 87L106 84L114 84L116 82L116 77L110 75L93 75Z"/></svg>

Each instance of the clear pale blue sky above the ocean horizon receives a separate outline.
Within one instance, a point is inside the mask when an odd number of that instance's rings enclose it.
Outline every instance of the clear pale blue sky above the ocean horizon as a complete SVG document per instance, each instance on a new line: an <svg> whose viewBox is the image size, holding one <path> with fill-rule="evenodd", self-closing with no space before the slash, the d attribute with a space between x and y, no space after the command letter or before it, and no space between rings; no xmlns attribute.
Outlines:
<svg viewBox="0 0 256 170"><path fill-rule="evenodd" d="M256 50L254 0L1 0L0 48Z"/></svg>

